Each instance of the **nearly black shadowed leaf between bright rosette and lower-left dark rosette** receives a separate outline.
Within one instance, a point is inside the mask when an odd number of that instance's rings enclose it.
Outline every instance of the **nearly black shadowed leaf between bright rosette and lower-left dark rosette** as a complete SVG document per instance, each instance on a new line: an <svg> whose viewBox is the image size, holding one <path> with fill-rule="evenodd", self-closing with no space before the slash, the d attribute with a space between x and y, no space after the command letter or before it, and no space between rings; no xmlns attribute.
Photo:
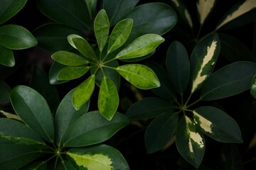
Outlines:
<svg viewBox="0 0 256 170"><path fill-rule="evenodd" d="M58 90L56 86L50 84L48 75L38 67L34 67L30 86L46 99L48 106L50 107L50 111L55 113L56 108L60 103L60 99L58 96Z"/></svg>

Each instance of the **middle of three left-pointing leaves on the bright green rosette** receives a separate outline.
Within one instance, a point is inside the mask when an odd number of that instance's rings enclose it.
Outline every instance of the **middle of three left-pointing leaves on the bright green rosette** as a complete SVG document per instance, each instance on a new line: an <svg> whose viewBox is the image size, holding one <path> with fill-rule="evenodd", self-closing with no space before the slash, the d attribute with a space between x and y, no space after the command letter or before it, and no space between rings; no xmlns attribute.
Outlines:
<svg viewBox="0 0 256 170"><path fill-rule="evenodd" d="M73 52L68 51L58 51L51 55L51 58L60 64L64 64L67 66L79 66L82 64L88 64L89 61L80 55L76 55Z"/></svg>

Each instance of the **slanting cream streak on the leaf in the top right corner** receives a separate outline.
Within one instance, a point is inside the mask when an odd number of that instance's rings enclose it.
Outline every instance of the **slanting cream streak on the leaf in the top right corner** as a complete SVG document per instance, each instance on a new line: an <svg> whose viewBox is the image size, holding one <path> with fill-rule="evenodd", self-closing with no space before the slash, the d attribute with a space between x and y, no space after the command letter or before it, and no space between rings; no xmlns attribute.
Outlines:
<svg viewBox="0 0 256 170"><path fill-rule="evenodd" d="M256 0L247 0L245 1L239 8L234 11L233 13L230 13L220 25L217 26L216 30L218 30L220 27L224 26L226 23L232 21L235 18L238 18L239 16L242 16L242 14L247 13L248 11L252 10L253 8L256 8Z"/></svg>

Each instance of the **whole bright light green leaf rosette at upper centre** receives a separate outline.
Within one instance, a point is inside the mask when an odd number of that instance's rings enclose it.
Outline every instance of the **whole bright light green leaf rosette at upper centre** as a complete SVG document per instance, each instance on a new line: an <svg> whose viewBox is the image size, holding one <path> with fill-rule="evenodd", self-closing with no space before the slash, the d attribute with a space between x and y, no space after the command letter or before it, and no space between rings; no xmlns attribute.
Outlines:
<svg viewBox="0 0 256 170"><path fill-rule="evenodd" d="M76 110L86 103L95 84L100 86L98 103L100 113L111 120L119 106L120 75L139 89L153 89L160 86L156 74L143 64L124 64L119 66L117 60L130 60L149 55L164 38L157 34L146 34L125 44L132 30L133 20L119 21L110 33L110 21L102 9L94 21L94 33L97 47L79 35L68 35L68 42L77 53L58 51L52 55L53 60L63 65L58 70L60 83L78 79L90 70L90 76L79 84L73 93L73 106ZM110 34L110 35L109 35Z"/></svg>

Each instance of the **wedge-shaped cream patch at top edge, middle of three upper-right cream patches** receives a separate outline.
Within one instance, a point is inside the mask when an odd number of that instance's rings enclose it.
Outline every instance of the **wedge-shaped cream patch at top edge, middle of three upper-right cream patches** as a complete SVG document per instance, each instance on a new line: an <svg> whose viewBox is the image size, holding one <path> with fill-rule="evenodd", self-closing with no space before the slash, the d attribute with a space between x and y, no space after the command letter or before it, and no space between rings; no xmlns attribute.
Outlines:
<svg viewBox="0 0 256 170"><path fill-rule="evenodd" d="M211 9L213 8L215 0L199 0L198 4L196 4L198 8L198 13L200 16L200 23L206 20L207 16L209 15Z"/></svg>

